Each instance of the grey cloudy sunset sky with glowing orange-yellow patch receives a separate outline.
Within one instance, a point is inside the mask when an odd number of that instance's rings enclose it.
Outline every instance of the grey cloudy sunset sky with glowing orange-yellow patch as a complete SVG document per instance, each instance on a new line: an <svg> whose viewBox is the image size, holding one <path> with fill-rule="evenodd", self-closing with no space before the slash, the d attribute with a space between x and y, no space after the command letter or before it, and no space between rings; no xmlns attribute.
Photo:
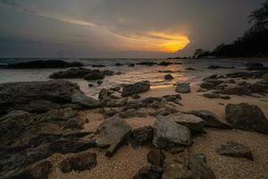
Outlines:
<svg viewBox="0 0 268 179"><path fill-rule="evenodd" d="M162 58L230 43L264 0L0 0L0 57Z"/></svg>

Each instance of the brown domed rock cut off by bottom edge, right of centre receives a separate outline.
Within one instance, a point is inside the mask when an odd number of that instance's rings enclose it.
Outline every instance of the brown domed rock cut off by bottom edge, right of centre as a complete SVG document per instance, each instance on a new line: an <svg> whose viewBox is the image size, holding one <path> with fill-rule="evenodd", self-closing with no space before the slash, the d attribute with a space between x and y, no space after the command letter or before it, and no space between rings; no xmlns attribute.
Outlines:
<svg viewBox="0 0 268 179"><path fill-rule="evenodd" d="M215 179L213 170L205 162L187 152L180 154L167 166L162 179Z"/></svg>

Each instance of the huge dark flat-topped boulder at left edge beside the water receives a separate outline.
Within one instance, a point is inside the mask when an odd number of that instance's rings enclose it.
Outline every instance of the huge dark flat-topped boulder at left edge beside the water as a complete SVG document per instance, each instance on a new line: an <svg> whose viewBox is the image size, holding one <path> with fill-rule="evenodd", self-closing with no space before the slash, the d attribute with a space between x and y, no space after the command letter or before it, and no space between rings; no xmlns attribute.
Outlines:
<svg viewBox="0 0 268 179"><path fill-rule="evenodd" d="M42 113L71 103L71 95L81 93L69 81L9 82L0 84L0 114L12 110Z"/></svg>

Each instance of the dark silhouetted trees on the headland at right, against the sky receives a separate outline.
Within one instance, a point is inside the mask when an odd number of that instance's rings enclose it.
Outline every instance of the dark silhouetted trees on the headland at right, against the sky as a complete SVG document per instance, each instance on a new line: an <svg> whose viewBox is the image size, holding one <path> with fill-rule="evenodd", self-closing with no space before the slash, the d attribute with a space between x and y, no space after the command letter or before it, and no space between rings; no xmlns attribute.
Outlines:
<svg viewBox="0 0 268 179"><path fill-rule="evenodd" d="M212 51L197 49L194 57L255 57L268 56L268 1L249 15L250 30L231 44L221 44Z"/></svg>

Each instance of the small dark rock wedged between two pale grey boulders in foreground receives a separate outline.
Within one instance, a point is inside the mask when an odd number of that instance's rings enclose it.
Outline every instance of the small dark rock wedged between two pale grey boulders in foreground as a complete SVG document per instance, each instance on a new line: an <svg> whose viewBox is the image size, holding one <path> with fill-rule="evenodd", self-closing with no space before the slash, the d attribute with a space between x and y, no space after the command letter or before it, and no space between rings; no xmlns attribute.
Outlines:
<svg viewBox="0 0 268 179"><path fill-rule="evenodd" d="M151 145L154 139L154 129L151 126L135 129L130 134L130 143L134 147Z"/></svg>

